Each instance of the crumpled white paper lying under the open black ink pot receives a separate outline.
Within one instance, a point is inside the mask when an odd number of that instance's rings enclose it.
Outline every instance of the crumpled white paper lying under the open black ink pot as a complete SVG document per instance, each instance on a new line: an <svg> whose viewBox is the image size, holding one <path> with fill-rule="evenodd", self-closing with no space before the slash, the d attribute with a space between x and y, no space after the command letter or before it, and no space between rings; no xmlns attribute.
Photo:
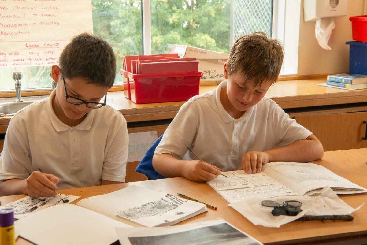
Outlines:
<svg viewBox="0 0 367 245"><path fill-rule="evenodd" d="M266 227L280 227L282 224L289 223L304 215L350 215L363 206L361 204L357 208L352 208L341 200L330 187L325 187L321 191L320 196L317 197L288 196L266 198L266 200L277 201L280 204L286 200L302 202L301 209L303 211L296 216L273 216L271 213L272 207L265 207L260 204L264 200L264 198L250 198L228 205L236 209L252 223Z"/></svg>

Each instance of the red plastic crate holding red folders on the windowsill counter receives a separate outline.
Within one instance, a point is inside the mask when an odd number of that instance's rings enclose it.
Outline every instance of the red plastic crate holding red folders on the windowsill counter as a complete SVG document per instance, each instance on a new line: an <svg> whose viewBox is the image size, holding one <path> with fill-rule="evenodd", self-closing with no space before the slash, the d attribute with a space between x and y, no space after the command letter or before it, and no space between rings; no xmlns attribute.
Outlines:
<svg viewBox="0 0 367 245"><path fill-rule="evenodd" d="M137 104L185 101L199 94L201 71L132 74L121 69L124 95Z"/></svg>

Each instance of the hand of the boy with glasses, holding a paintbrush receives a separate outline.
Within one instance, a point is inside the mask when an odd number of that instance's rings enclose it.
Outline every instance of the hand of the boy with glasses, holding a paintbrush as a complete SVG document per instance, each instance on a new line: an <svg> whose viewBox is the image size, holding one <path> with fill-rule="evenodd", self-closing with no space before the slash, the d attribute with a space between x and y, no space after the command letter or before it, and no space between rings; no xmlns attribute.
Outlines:
<svg viewBox="0 0 367 245"><path fill-rule="evenodd" d="M33 171L25 180L25 191L31 197L54 197L59 178L50 173Z"/></svg>

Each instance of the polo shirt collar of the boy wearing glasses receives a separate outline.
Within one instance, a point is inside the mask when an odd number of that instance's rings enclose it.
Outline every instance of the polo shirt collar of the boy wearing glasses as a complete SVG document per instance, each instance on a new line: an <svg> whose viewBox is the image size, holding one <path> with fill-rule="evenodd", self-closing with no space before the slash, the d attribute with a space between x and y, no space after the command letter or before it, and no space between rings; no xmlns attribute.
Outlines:
<svg viewBox="0 0 367 245"><path fill-rule="evenodd" d="M65 123L59 120L59 118L56 116L54 112L54 109L52 108L52 99L55 97L55 94L56 89L54 89L51 92L50 97L48 97L48 103L47 103L48 117L50 118L51 124L55 128L55 130L57 132L66 131L69 130L70 128L75 128L78 130L90 130L96 110L91 110L90 112L88 112L86 118L84 118L84 120L80 122L80 124L76 125L75 127L70 127L69 125L66 125Z"/></svg>

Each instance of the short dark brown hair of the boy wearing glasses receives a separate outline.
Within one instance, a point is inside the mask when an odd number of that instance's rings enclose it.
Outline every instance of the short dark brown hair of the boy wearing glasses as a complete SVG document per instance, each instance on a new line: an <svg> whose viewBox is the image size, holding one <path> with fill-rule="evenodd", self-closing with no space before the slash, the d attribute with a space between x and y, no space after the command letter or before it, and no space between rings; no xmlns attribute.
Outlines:
<svg viewBox="0 0 367 245"><path fill-rule="evenodd" d="M62 51L59 64L67 78L82 77L88 83L110 88L116 76L116 57L112 47L101 37L81 33Z"/></svg>

